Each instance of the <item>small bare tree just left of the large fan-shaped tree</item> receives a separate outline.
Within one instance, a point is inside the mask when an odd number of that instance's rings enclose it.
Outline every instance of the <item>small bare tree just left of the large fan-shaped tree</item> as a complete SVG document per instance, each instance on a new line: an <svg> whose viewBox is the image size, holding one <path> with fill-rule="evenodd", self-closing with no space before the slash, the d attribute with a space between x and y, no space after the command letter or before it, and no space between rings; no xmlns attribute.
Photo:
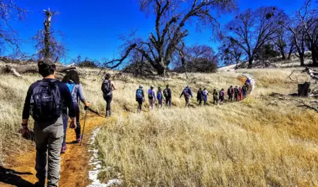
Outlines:
<svg viewBox="0 0 318 187"><path fill-rule="evenodd" d="M243 56L243 49L232 37L222 37L218 50L220 60L223 61L225 66L229 66L230 64L239 64Z"/></svg>

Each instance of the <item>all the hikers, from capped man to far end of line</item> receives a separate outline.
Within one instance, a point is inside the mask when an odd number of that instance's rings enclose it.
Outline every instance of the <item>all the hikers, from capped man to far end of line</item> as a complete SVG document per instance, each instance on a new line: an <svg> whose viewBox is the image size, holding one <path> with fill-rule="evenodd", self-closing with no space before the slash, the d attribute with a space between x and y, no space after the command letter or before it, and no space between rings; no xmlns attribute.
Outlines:
<svg viewBox="0 0 318 187"><path fill-rule="evenodd" d="M59 186L59 174L61 164L61 153L66 152L66 129L73 128L76 133L75 143L81 143L81 124L79 122L80 109L79 102L81 101L86 109L90 107L90 103L86 101L83 95L83 87L77 71L69 71L62 81L56 80L56 66L51 59L42 59L38 61L37 66L39 73L43 77L38 80L28 89L23 107L23 118L21 123L21 133L23 137L30 134L28 128L28 119L30 116L34 122L34 139L36 145L35 170L37 171L37 183L35 186L44 187L47 177L48 187ZM249 89L249 79L242 88L228 89L229 101L233 98L237 101L247 96ZM105 80L102 82L102 95L106 102L106 117L111 116L112 91L116 90L114 82L110 80L110 74L105 75ZM155 103L158 101L158 106L171 107L172 90L169 85L166 88L159 87L158 92L155 92L154 86L147 92L149 110L153 110ZM192 90L187 86L182 90L180 98L184 96L186 107L189 106L190 97L193 97ZM225 97L224 89L218 92L213 90L213 103L223 104ZM197 99L199 105L204 101L206 105L208 101L208 91L206 88L198 91ZM138 102L138 111L141 111L143 102L145 102L145 94L143 85L139 85L136 90L136 102ZM70 121L69 121L70 119ZM47 167L48 165L48 167Z"/></svg>

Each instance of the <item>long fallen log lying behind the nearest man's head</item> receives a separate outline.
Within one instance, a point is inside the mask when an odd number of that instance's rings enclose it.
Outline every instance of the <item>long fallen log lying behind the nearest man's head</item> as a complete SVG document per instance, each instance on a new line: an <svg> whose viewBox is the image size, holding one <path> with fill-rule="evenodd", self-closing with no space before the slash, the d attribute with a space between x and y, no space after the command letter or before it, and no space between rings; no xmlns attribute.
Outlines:
<svg viewBox="0 0 318 187"><path fill-rule="evenodd" d="M76 66L57 66L56 68L58 73L66 73L69 70L76 70ZM23 73L38 73L38 68L36 65L6 65L3 68L0 68L0 73L13 73L14 76L22 77L20 74Z"/></svg>

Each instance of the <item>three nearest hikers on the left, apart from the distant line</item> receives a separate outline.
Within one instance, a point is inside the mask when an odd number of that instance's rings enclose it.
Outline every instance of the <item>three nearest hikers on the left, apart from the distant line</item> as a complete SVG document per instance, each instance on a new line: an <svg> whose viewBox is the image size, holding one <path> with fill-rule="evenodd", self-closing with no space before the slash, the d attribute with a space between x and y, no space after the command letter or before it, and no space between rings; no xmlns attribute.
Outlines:
<svg viewBox="0 0 318 187"><path fill-rule="evenodd" d="M23 107L21 133L28 137L28 119L34 122L34 140L36 145L35 170L37 183L44 187L47 177L48 187L59 186L61 153L66 152L66 130L73 128L76 137L74 143L81 143L81 124L79 122L81 101L86 108L90 103L83 95L83 87L77 71L68 71L62 81L56 80L56 66L51 59L38 61L39 73L43 77L28 89ZM111 115L110 102L112 91L116 90L106 74L102 83L102 93L106 101L106 116ZM69 121L70 119L70 121Z"/></svg>

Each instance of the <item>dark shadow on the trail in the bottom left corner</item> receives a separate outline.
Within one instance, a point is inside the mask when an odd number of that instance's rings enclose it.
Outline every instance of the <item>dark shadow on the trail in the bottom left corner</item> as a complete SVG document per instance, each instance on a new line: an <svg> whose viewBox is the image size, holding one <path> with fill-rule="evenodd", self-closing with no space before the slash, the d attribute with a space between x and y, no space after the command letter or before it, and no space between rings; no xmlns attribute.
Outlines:
<svg viewBox="0 0 318 187"><path fill-rule="evenodd" d="M0 182L18 187L33 187L34 184L22 179L20 175L32 175L30 172L18 172L0 166Z"/></svg>

